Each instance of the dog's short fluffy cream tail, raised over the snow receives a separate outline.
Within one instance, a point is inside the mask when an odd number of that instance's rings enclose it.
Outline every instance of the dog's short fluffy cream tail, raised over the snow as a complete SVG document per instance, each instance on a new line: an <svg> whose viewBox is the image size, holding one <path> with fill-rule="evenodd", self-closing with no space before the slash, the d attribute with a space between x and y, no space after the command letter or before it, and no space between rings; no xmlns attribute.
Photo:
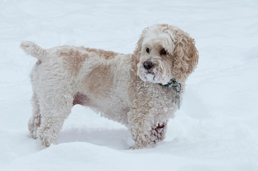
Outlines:
<svg viewBox="0 0 258 171"><path fill-rule="evenodd" d="M26 54L41 60L48 54L46 49L43 49L36 43L30 41L21 42L20 48L23 49Z"/></svg>

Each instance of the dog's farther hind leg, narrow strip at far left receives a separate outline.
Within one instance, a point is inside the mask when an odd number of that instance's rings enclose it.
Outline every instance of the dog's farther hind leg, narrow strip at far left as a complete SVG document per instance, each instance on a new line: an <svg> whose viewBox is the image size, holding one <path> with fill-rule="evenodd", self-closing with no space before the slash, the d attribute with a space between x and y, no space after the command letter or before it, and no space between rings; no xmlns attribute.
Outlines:
<svg viewBox="0 0 258 171"><path fill-rule="evenodd" d="M36 93L32 95L32 117L28 121L28 129L32 138L37 139L37 129L41 123L40 107Z"/></svg>

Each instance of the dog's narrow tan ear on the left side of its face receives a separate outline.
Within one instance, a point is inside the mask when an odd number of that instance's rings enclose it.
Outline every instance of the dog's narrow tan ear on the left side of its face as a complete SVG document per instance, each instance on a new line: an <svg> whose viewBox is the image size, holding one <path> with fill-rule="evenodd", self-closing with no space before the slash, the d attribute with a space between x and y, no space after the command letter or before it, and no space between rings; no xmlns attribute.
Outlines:
<svg viewBox="0 0 258 171"><path fill-rule="evenodd" d="M145 34L148 30L148 27L143 29L142 30L142 34L140 34L140 38L138 40L138 42L136 43L136 47L134 49L134 53L132 54L132 60L131 60L131 63L132 63L132 71L136 74L137 73L137 64L139 63L139 60L140 60L140 54L141 54L141 50L142 50L142 42L143 42L143 39L145 37Z"/></svg>

